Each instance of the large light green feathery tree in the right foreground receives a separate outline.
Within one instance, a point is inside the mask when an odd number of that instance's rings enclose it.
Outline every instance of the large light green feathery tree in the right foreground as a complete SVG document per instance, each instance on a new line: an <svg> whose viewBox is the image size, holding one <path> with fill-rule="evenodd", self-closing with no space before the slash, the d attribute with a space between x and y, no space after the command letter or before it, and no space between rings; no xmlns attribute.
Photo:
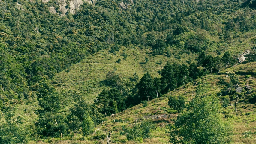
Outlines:
<svg viewBox="0 0 256 144"><path fill-rule="evenodd" d="M215 96L197 95L189 103L187 112L178 116L172 143L228 143L232 129L219 114L220 104Z"/></svg>

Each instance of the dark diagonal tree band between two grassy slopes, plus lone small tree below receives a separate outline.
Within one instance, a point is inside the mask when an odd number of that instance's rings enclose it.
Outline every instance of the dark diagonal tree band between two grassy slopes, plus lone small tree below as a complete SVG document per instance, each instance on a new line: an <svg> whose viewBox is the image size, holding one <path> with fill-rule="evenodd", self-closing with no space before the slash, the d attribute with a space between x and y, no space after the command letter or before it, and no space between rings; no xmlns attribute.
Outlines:
<svg viewBox="0 0 256 144"><path fill-rule="evenodd" d="M140 80L134 73L133 78L129 80L123 79L115 72L108 72L105 84L110 89L104 89L95 99L94 104L98 106L99 111L107 116L111 113L117 113L125 110L141 101L149 101L150 99L159 98L168 91L172 91L180 86L186 86L188 82L197 79L206 74L218 73L222 68L228 68L236 63L229 52L225 52L222 57L206 55L201 52L198 61L189 66L186 64L177 64L167 62L164 68L159 71L160 78L153 78L149 72L145 73ZM198 67L204 69L200 70ZM180 112L184 107L180 104L182 97L173 98L173 106L175 110ZM170 104L170 105L173 105ZM178 109L180 107L180 109Z"/></svg>

